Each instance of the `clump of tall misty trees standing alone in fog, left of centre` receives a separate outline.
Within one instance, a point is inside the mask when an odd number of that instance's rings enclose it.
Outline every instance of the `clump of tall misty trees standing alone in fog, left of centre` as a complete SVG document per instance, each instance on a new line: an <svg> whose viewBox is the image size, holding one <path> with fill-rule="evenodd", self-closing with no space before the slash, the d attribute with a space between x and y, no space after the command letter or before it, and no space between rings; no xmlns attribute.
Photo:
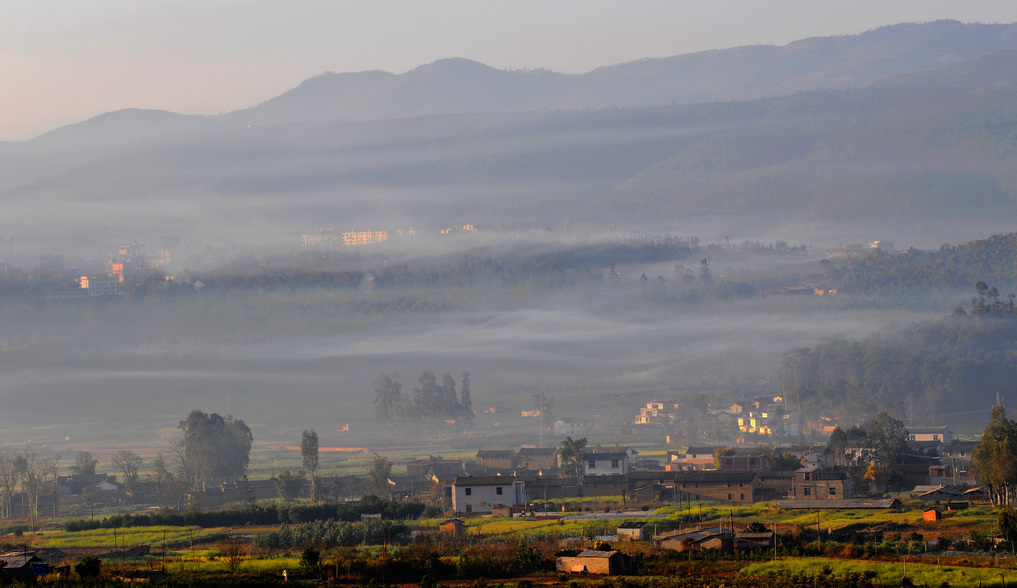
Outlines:
<svg viewBox="0 0 1017 588"><path fill-rule="evenodd" d="M473 427L473 402L470 400L470 373L464 372L462 391L457 394L452 374L424 370L413 389L413 396L403 394L398 373L382 373L374 380L374 418L392 432L398 426L404 432L447 434Z"/></svg>

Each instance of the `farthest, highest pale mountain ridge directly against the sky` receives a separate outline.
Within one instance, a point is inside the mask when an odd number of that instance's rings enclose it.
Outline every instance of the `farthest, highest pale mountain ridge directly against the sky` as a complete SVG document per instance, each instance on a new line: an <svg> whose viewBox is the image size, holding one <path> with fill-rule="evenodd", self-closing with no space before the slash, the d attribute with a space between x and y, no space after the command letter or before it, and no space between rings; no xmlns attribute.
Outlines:
<svg viewBox="0 0 1017 588"><path fill-rule="evenodd" d="M323 74L222 120L244 126L743 101L856 87L1003 50L1017 50L1017 24L941 20L805 39L783 47L738 47L645 59L582 75L502 71L467 59L445 59L401 75L380 71Z"/></svg>

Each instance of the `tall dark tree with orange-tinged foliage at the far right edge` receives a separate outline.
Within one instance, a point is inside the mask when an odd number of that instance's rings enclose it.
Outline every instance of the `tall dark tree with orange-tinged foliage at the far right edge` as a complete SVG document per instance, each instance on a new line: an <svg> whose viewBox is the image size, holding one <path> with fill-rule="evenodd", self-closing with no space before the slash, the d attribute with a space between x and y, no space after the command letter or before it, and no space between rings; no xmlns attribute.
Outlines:
<svg viewBox="0 0 1017 588"><path fill-rule="evenodd" d="M1010 506L1017 491L1017 421L1008 419L1002 406L993 408L981 443L971 458L993 504Z"/></svg>

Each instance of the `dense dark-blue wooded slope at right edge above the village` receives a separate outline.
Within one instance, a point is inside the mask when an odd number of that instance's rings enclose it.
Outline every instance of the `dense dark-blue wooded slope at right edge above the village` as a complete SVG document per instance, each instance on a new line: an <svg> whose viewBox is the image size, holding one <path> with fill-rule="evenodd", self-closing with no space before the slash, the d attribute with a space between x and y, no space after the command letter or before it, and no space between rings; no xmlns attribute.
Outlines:
<svg viewBox="0 0 1017 588"><path fill-rule="evenodd" d="M970 312L791 349L781 363L781 395L802 417L837 414L849 421L887 411L930 422L992 405L1017 372L1014 314L992 290L979 284Z"/></svg>

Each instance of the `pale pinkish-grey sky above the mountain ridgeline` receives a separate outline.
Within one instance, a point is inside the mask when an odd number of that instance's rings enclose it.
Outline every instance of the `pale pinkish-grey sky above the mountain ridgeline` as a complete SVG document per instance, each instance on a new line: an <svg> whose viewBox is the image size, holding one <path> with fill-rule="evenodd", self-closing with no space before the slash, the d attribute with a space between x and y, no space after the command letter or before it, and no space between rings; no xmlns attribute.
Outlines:
<svg viewBox="0 0 1017 588"><path fill-rule="evenodd" d="M649 57L953 18L1013 0L0 0L0 141L123 108L218 114L325 71L448 57L583 73Z"/></svg>

